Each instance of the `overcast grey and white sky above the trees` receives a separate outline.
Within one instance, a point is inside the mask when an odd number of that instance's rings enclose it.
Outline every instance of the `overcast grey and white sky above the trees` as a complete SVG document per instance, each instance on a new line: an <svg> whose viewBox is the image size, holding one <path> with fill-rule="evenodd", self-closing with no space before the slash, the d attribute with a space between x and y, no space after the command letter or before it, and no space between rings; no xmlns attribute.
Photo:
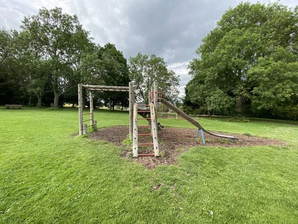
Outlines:
<svg viewBox="0 0 298 224"><path fill-rule="evenodd" d="M100 45L116 44L129 58L138 52L165 59L180 75L180 93L190 80L187 65L225 10L240 0L0 0L0 26L18 29L24 15L41 7L77 14ZM251 0L256 2L256 0ZM268 3L269 0L260 0ZM281 0L295 7L297 0Z"/></svg>

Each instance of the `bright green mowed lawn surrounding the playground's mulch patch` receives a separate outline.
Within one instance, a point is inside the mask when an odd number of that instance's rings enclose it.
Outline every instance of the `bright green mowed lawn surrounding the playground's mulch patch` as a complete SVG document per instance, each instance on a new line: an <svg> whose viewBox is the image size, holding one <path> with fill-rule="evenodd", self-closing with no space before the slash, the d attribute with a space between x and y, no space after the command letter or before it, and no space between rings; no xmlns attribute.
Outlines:
<svg viewBox="0 0 298 224"><path fill-rule="evenodd" d="M99 127L129 122L127 112L105 110L95 119ZM110 143L73 137L77 110L0 108L0 223L297 224L298 126L199 122L288 146L195 147L177 166L148 170Z"/></svg>

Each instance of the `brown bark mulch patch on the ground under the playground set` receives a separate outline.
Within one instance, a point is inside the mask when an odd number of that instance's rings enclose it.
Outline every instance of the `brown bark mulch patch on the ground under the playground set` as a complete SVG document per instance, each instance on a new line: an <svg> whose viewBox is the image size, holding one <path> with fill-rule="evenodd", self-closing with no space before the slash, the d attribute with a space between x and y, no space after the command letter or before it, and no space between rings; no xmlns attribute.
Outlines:
<svg viewBox="0 0 298 224"><path fill-rule="evenodd" d="M150 133L149 129L143 128L139 130L139 134ZM213 132L217 134L223 134L219 132ZM114 143L116 146L123 148L122 156L125 157L127 152L131 152L130 146L124 145L123 140L127 138L129 134L128 126L116 126L101 128L97 132L90 133L90 138L95 140L105 140ZM140 162L149 169L154 169L158 165L164 164L176 164L176 158L183 152L188 151L189 147L193 146L253 146L253 145L286 145L285 142L275 139L260 138L253 136L246 136L242 134L228 134L234 137L238 137L239 140L231 142L229 139L219 138L207 133L204 133L206 144L203 144L201 134L199 138L195 138L197 134L196 129L191 128L176 128L165 127L158 131L159 149L165 152L165 157L154 156L140 156L133 158L134 162ZM152 142L151 136L139 136L139 143ZM139 154L153 153L152 146L139 146Z"/></svg>

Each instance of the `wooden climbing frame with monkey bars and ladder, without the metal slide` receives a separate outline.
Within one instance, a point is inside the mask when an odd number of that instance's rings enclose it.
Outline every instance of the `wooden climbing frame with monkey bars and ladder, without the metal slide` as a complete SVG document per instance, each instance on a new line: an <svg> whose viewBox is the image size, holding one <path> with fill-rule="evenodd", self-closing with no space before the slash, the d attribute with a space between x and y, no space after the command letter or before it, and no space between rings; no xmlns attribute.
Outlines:
<svg viewBox="0 0 298 224"><path fill-rule="evenodd" d="M89 91L90 97L90 112L83 113L83 91ZM135 92L133 83L130 82L128 87L125 86L94 86L78 84L78 120L79 120L79 135L87 134L87 128L93 126L97 129L97 120L94 120L93 107L93 91L108 91L108 92L128 92L129 93L129 137L133 141L133 156L154 155L159 156L158 137L157 137L157 84L153 84L153 90L149 93L149 105L137 105L135 102ZM160 91L159 91L160 92ZM138 117L138 114L142 118ZM90 115L89 119L83 119L83 115ZM139 119L148 120L148 125L138 125ZM84 123L90 121L90 125ZM147 127L151 133L138 134L139 127ZM152 135L153 142L139 143L139 136ZM143 145L153 145L154 153L138 154L138 147Z"/></svg>

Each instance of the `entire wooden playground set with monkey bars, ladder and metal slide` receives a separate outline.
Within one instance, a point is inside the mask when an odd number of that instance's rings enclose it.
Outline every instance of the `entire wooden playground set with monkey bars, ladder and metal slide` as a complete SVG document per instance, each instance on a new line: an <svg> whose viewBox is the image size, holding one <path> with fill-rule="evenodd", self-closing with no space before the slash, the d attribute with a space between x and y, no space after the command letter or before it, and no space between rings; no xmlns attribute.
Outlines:
<svg viewBox="0 0 298 224"><path fill-rule="evenodd" d="M90 112L83 113L83 91L89 91L90 97ZM161 103L168 107L170 110L174 111L176 114L178 113L186 119L188 122L192 123L198 128L197 138L199 133L201 132L203 142L205 144L204 134L206 132L210 135L229 138L233 142L235 139L238 139L233 136L214 134L204 129L194 118L190 117L186 113L179 110L175 105L167 102L162 99L162 92L158 91L157 84L153 83L152 91L149 91L149 104L148 105L138 105L135 101L135 92L133 83L130 82L128 87L125 86L94 86L94 85L82 85L78 84L78 123L79 123L79 135L87 134L87 128L89 126L93 126L94 129L97 129L97 121L94 120L94 107L93 107L93 91L109 91L109 92L128 92L129 93L129 138L133 141L133 157L138 156L160 156L159 154L159 145L158 145L158 122L157 122L157 107L158 103ZM84 120L83 115L90 115L89 119ZM142 117L139 117L141 115ZM148 125L139 125L138 120L148 120ZM84 123L86 121L90 121L90 125ZM138 133L139 128L149 128L150 133ZM152 136L152 142L147 143L139 143L139 136L149 135ZM138 148L139 146L153 146L153 152L150 154L139 154Z"/></svg>

